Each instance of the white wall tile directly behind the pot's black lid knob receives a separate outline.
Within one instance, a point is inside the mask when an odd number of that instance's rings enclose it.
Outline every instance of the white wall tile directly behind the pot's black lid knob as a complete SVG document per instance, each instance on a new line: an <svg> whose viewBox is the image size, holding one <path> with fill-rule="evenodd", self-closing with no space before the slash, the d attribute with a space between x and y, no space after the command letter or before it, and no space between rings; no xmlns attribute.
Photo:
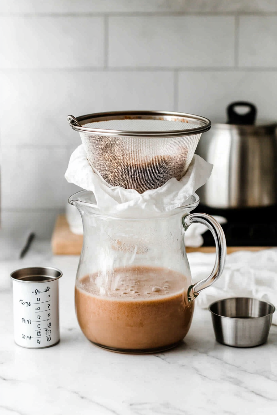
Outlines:
<svg viewBox="0 0 277 415"><path fill-rule="evenodd" d="M182 71L179 74L178 110L226 122L226 107L232 101L257 105L259 120L277 120L277 72Z"/></svg>

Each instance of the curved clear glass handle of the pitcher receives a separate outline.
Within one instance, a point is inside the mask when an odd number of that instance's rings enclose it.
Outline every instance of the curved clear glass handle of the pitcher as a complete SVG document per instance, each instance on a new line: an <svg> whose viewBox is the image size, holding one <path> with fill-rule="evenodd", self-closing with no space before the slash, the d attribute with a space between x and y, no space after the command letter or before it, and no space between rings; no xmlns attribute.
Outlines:
<svg viewBox="0 0 277 415"><path fill-rule="evenodd" d="M225 261L226 261L226 239L221 225L210 215L206 213L191 213L185 215L182 218L184 229L188 229L192 223L201 223L205 225L212 233L216 242L216 262L213 267L213 271L207 278L198 281L194 285L191 285L188 289L188 300L193 301L197 295L215 283L221 276Z"/></svg>

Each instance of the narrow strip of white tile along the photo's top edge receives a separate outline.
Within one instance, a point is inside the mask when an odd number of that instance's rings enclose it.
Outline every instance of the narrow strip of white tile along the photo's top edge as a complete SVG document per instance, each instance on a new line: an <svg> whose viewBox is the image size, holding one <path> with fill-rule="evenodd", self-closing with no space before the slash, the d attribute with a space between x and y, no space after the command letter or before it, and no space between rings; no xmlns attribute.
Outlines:
<svg viewBox="0 0 277 415"><path fill-rule="evenodd" d="M0 0L0 12L274 12L275 0Z"/></svg>

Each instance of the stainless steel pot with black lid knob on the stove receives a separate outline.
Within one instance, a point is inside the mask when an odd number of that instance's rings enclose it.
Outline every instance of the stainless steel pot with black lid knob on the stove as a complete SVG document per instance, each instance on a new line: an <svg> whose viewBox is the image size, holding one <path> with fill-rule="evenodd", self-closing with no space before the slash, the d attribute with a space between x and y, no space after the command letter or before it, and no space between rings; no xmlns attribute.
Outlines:
<svg viewBox="0 0 277 415"><path fill-rule="evenodd" d="M248 107L245 115L235 111ZM263 207L277 203L277 123L254 125L256 108L247 102L228 106L228 123L213 124L196 154L212 163L201 203L216 208Z"/></svg>

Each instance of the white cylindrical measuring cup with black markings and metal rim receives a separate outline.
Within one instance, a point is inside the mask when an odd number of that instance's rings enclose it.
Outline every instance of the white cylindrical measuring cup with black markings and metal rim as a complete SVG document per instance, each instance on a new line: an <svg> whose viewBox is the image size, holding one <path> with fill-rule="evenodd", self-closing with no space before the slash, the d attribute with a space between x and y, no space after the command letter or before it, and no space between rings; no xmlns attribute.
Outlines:
<svg viewBox="0 0 277 415"><path fill-rule="evenodd" d="M49 267L22 268L10 274L14 338L19 346L42 349L59 343L61 276L59 269Z"/></svg>

